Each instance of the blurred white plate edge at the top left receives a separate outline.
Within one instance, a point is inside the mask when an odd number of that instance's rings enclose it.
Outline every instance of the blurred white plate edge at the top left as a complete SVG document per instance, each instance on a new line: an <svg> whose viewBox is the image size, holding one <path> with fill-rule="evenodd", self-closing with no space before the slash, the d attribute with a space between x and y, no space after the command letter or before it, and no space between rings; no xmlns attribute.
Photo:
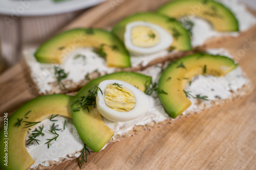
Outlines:
<svg viewBox="0 0 256 170"><path fill-rule="evenodd" d="M17 16L52 15L88 8L104 0L0 0L0 14Z"/></svg>

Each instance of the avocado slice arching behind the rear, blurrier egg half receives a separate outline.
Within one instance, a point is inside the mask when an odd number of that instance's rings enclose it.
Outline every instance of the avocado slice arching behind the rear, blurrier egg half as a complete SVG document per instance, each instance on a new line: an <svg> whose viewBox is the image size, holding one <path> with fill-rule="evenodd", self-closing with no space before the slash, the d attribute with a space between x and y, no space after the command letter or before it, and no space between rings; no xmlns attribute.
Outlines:
<svg viewBox="0 0 256 170"><path fill-rule="evenodd" d="M125 26L134 21L146 21L159 25L173 35L174 42L172 48L180 51L191 50L190 37L187 30L176 19L153 12L136 13L122 19L113 27L112 33L124 41Z"/></svg>

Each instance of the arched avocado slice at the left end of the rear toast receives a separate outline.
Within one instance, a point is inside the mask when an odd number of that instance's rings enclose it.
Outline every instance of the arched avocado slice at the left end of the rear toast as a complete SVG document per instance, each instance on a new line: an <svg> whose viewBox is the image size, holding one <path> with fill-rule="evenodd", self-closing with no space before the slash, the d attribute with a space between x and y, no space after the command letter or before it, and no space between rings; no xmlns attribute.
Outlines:
<svg viewBox="0 0 256 170"><path fill-rule="evenodd" d="M130 67L129 53L124 44L112 33L101 29L73 29L60 33L43 43L35 58L41 63L61 64L63 59L77 47L94 47L103 50L109 67Z"/></svg>

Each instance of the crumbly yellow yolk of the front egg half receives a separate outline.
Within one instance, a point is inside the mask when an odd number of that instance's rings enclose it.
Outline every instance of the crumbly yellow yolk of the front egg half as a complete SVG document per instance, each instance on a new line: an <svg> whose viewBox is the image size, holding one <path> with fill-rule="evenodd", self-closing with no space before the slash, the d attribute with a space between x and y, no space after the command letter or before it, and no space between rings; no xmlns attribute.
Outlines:
<svg viewBox="0 0 256 170"><path fill-rule="evenodd" d="M122 85L109 84L105 88L106 106L116 111L126 112L135 107L134 93Z"/></svg>

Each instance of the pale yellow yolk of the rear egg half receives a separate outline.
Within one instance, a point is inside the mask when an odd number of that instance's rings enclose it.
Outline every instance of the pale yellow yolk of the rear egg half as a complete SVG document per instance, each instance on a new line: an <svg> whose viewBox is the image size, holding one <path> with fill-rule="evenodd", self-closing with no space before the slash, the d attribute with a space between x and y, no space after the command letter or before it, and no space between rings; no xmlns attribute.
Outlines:
<svg viewBox="0 0 256 170"><path fill-rule="evenodd" d="M150 27L137 26L132 28L132 43L140 47L151 47L159 42L158 33Z"/></svg>

